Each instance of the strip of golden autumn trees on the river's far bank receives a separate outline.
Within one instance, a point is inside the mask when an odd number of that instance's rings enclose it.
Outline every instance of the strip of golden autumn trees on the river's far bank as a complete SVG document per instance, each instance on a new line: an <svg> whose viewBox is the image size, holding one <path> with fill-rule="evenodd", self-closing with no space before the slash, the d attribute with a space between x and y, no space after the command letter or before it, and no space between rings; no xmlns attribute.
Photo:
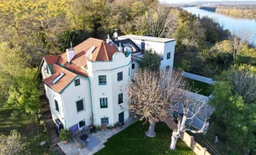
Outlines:
<svg viewBox="0 0 256 155"><path fill-rule="evenodd" d="M198 9L203 9L209 12L217 12L223 15L229 15L234 18L244 18L244 19L255 19L256 20L256 10L255 9L236 9L236 8L225 8L220 6L196 6Z"/></svg>

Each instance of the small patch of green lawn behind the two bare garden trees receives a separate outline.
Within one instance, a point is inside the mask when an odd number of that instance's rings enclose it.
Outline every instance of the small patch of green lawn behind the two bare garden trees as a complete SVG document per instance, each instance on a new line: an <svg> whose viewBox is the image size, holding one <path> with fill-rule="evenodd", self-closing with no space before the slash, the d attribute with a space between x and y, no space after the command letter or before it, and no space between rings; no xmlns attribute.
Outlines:
<svg viewBox="0 0 256 155"><path fill-rule="evenodd" d="M185 78L185 80L188 82L189 88L192 88L192 90L199 91L198 92L199 95L209 96L213 93L213 88L211 84L192 80L190 78Z"/></svg>

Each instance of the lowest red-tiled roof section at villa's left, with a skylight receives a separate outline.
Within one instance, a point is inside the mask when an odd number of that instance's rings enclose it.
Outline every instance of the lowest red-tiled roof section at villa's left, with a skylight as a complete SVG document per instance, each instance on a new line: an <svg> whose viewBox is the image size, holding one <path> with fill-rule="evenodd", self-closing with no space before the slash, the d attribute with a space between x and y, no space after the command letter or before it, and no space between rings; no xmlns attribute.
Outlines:
<svg viewBox="0 0 256 155"><path fill-rule="evenodd" d="M43 83L47 84L50 88L54 89L54 91L56 91L57 93L60 93L62 90L64 90L67 84L73 81L74 77L76 77L77 74L74 74L71 71L67 71L67 69L60 67L57 64L53 64L53 67L54 67L54 74L51 75L50 77L43 79ZM61 79L57 81L55 84L51 84L54 78L57 77L59 74L61 74L61 72L64 73L64 76L61 77Z"/></svg>

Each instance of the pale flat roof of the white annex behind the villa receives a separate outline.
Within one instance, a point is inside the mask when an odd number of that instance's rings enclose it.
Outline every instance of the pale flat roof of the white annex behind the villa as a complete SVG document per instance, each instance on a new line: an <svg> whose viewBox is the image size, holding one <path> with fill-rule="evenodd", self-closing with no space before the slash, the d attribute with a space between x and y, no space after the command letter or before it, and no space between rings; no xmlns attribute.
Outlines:
<svg viewBox="0 0 256 155"><path fill-rule="evenodd" d="M175 41L175 39L159 38L159 37L153 37L153 36L126 35L126 36L118 36L118 37L123 39L145 40L145 41L152 41L152 42L158 42L158 43L168 43L168 42Z"/></svg>

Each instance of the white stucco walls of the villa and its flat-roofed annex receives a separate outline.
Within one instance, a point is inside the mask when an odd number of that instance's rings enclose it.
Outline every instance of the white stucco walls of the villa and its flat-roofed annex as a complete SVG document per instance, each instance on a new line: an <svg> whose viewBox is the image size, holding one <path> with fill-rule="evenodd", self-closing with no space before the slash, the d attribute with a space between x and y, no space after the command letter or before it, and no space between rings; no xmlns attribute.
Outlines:
<svg viewBox="0 0 256 155"><path fill-rule="evenodd" d="M138 36L137 36L138 37ZM126 39L123 36L119 39ZM130 39L141 48L141 40ZM157 40L159 40L157 38ZM146 50L155 50L163 56L161 67L173 67L175 40L164 39L154 41L154 37L144 40ZM170 54L169 58L168 53ZM140 53L141 54L141 53ZM85 57L85 56L83 56ZM125 122L129 119L126 89L130 84L133 74L136 74L140 64L138 60L133 59L133 53L116 52L111 60L86 60L86 67L82 67L88 76L77 74L74 79L60 92L54 91L49 84L44 84L46 96L49 99L50 111L55 121L59 119L65 129L82 129L79 122L85 121L85 126L101 126L102 119L108 120L108 125L116 122ZM43 59L41 64L41 73L43 79L50 77L53 71L52 64L47 64ZM65 68L61 64L55 64ZM122 78L120 78L120 75ZM106 77L106 83L100 83L99 77ZM79 79L80 84L75 86ZM105 78L104 78L105 81ZM120 100L122 96L122 101ZM106 99L107 98L107 99ZM83 110L78 112L77 102L83 101ZM102 101L104 104L102 106ZM58 106L58 110L56 107Z"/></svg>

